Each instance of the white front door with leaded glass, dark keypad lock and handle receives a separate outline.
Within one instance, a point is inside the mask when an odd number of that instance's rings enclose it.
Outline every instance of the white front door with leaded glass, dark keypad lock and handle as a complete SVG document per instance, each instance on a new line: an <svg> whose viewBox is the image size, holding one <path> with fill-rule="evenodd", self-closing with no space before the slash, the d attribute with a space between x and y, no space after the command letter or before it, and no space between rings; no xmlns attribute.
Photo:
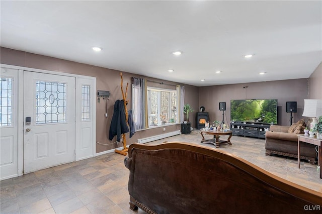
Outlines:
<svg viewBox="0 0 322 214"><path fill-rule="evenodd" d="M75 160L75 78L24 72L24 173Z"/></svg>

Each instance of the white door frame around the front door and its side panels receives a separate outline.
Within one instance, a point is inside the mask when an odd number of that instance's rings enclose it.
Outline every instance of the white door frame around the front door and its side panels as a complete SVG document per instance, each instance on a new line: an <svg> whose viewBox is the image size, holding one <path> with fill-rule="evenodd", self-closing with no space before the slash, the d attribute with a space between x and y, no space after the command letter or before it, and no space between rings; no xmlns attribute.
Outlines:
<svg viewBox="0 0 322 214"><path fill-rule="evenodd" d="M49 71L49 70L42 70L42 69L36 69L36 68L28 68L28 67L22 67L22 66L15 66L15 65L7 65L7 64L0 64L1 67L3 68L12 68L12 69L17 69L18 70L18 82L19 82L19 87L18 87L18 176L23 175L23 154L24 154L24 109L23 109L23 101L24 101L24 87L20 86L23 85L24 82L24 71L32 71L32 72L39 72L39 73L46 73L46 74L53 74L53 75L63 75L63 76L71 76L75 77L76 79L86 79L87 81L92 82L92 90L91 90L91 96L92 96L92 104L93 108L91 111L91 116L92 116L92 135L91 135L91 140L93 142L92 144L92 157L96 156L96 77L91 77L91 76L83 76L83 75L77 75L77 74L70 74L70 73L64 73L64 72L57 72L57 71ZM77 81L76 81L77 82ZM77 85L76 85L77 87ZM76 101L77 103L77 101ZM76 120L76 123L77 122ZM75 127L80 127L75 125ZM76 133L76 132L75 132ZM76 142L77 144L77 142ZM88 158L88 157L87 157ZM77 160L81 160L82 158L77 158Z"/></svg>

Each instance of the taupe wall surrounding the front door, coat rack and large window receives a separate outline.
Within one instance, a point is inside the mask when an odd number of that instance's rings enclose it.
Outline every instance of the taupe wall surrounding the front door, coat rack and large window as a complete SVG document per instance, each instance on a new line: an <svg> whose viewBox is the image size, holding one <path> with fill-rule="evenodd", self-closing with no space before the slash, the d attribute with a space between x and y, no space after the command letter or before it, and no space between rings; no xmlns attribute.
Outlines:
<svg viewBox="0 0 322 214"><path fill-rule="evenodd" d="M0 51L1 51L0 63L2 64L96 77L97 78L96 90L108 90L111 93L111 96L107 100L108 118L105 118L106 100L101 98L100 102L98 102L98 100L96 102L96 140L100 143L108 144L108 145L96 144L96 152L99 153L99 152L103 152L106 150L110 150L110 149L114 149L122 146L121 143L119 143L118 145L114 143L116 141L115 140L116 137L112 141L109 141L108 139L110 124L113 116L114 103L117 99L122 99L122 92L120 87L121 85L120 71L57 59L53 57L32 54L28 52L23 52L23 51L18 51L18 50L3 48L3 47L1 47ZM133 76L139 76L139 75L135 75L127 72L122 72L122 74L123 74L124 91L126 88L126 83L129 82L129 88L128 88L128 94L127 94L127 100L129 100L129 103L127 106L130 109L131 108L130 106L132 104L131 103L131 96L132 96L131 78ZM166 84L159 84L159 83L148 82L148 86L157 86L157 87L163 87L163 88L170 87L172 89L176 89L175 86L169 86L168 84L171 84L171 85L178 84L175 82L170 82L165 80L158 80L158 79L151 79L151 78L148 78L148 79L166 83ZM197 87L186 85L186 93L190 93L191 91L196 91L196 90L198 90ZM198 93L197 92L190 93L189 99L194 100L193 104L197 108ZM131 139L129 139L129 135L127 134L126 135L127 145L136 142L137 139L140 139L140 138L159 135L162 133L172 132L175 130L181 130L180 125L167 126L165 127L166 131L163 131L163 128L164 127L153 128L153 129L136 132Z"/></svg>

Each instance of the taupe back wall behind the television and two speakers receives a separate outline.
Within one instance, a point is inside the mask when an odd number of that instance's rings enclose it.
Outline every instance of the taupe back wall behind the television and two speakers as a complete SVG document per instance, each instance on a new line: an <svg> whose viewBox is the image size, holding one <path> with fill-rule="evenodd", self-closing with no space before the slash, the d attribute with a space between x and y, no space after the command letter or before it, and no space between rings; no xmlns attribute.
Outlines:
<svg viewBox="0 0 322 214"><path fill-rule="evenodd" d="M297 113L293 113L293 122L303 118L307 81L292 79L200 87L199 105L205 106L205 112L209 112L210 121L213 122L222 121L219 102L226 102L224 121L227 124L230 123L230 99L278 99L278 124L289 126L291 114L286 113L286 101L297 101Z"/></svg>

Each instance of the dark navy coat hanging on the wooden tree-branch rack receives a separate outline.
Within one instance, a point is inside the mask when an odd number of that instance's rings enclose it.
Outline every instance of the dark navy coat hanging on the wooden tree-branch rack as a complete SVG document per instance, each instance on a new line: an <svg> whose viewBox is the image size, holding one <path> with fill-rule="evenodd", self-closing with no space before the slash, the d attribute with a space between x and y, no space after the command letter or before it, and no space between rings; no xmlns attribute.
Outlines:
<svg viewBox="0 0 322 214"><path fill-rule="evenodd" d="M121 134L129 132L129 128L125 120L125 108L123 100L116 100L114 104L114 113L110 126L110 141L113 140L116 135L116 140L121 140Z"/></svg>

